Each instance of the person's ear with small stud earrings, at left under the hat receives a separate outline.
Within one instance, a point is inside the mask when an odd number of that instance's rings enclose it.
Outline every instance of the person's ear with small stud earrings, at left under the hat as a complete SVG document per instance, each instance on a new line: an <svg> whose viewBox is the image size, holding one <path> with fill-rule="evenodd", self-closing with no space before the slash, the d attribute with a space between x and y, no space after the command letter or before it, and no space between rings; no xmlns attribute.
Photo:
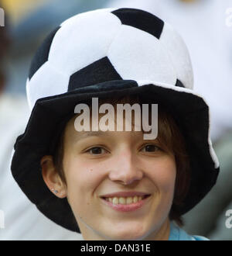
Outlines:
<svg viewBox="0 0 232 256"><path fill-rule="evenodd" d="M56 171L53 157L50 155L44 156L40 161L42 167L43 180L51 192L57 197L64 198L67 196L67 189L60 175Z"/></svg>

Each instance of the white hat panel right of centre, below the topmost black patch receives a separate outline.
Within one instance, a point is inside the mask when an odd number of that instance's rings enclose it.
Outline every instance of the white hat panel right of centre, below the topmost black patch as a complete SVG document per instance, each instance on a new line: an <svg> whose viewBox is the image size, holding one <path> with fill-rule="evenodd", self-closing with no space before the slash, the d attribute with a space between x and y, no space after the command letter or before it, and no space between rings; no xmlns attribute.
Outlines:
<svg viewBox="0 0 232 256"><path fill-rule="evenodd" d="M123 79L176 84L176 71L161 43L141 29L122 25L107 56Z"/></svg>

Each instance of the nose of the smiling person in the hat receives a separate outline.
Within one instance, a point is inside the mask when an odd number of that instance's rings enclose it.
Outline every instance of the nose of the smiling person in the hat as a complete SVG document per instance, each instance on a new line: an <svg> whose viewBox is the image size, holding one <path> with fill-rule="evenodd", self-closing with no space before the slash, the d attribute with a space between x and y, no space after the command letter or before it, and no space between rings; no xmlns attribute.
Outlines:
<svg viewBox="0 0 232 256"><path fill-rule="evenodd" d="M143 177L143 171L138 167L138 159L131 150L121 150L112 162L109 178L113 182L129 185L135 181L139 181Z"/></svg>

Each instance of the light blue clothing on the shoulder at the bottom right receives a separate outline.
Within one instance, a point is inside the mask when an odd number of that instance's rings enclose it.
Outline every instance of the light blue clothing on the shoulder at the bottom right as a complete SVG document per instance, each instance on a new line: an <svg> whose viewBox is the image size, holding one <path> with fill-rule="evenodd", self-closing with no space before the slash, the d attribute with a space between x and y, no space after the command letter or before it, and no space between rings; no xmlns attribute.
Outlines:
<svg viewBox="0 0 232 256"><path fill-rule="evenodd" d="M209 240L203 236L187 234L185 230L178 227L176 223L170 223L169 240Z"/></svg>

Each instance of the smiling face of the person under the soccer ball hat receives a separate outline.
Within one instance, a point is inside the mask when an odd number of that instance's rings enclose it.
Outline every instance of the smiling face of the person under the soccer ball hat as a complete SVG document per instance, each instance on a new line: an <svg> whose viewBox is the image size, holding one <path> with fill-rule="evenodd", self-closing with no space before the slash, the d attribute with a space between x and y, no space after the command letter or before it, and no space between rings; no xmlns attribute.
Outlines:
<svg viewBox="0 0 232 256"><path fill-rule="evenodd" d="M168 240L174 155L159 140L144 140L142 131L77 132L75 119L63 133L65 182L47 157L43 178L57 196L67 196L84 240Z"/></svg>

